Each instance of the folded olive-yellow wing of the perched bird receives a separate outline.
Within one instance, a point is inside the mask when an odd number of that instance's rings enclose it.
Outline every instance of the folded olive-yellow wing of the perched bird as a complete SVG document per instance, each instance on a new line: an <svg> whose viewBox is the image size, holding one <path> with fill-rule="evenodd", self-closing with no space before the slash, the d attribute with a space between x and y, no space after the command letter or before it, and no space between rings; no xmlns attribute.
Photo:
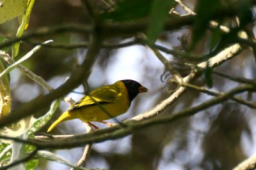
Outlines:
<svg viewBox="0 0 256 170"><path fill-rule="evenodd" d="M70 106L67 111L76 110L81 107L92 106L94 104L113 103L117 96L118 89L111 86L101 87L90 92L88 96L84 96L82 99L77 101L77 103Z"/></svg>

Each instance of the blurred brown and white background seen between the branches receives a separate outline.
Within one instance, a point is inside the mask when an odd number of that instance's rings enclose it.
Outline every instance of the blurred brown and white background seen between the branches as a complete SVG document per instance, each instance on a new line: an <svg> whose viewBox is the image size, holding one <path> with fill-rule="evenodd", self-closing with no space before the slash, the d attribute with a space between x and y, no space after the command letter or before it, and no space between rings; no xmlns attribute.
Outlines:
<svg viewBox="0 0 256 170"><path fill-rule="evenodd" d="M183 1L193 10L195 1ZM95 1L95 6L100 10L108 8L109 1ZM181 8L177 11L183 13ZM29 31L40 27L51 27L70 23L86 24L90 17L79 0L45 0L36 1L30 18ZM4 36L14 35L19 27L17 20L11 20L0 25L0 34ZM253 31L255 31L253 27ZM163 32L157 41L158 45L174 49L180 46L180 38L184 34L190 34L189 28L177 29L177 31ZM33 38L32 41L24 41L20 46L19 57L28 52L39 43L53 39L54 43L79 43L87 41L83 34L61 33L41 38ZM112 43L122 43L129 39L113 39ZM207 51L207 35L200 41L198 55ZM34 73L42 76L52 87L59 87L76 69L77 64L83 60L85 48L62 49L43 47L31 59L24 63ZM182 63L172 55L163 53L164 57L175 63ZM182 76L189 72L188 67L177 64ZM215 69L221 73L234 76L255 79L255 60L251 50L244 50L239 56L228 60ZM163 64L145 46L134 45L118 49L103 49L93 66L92 74L88 80L89 89L93 90L102 85L114 83L117 80L132 79L139 81L149 89L149 92L140 94L130 110L118 117L127 120L143 111L153 108L168 94L169 85L161 81L164 72ZM211 90L225 92L239 83L227 80L215 74ZM198 78L196 85L205 86L204 78ZM29 80L18 69L11 72L12 106L34 99L47 92L38 84ZM74 89L68 96L79 100L84 92L83 86ZM254 94L244 93L241 97L255 100ZM172 114L200 104L211 96L202 94L196 90L188 90L178 101L169 106L162 114ZM62 102L58 113L49 125L68 108L68 104ZM45 108L47 110L47 108ZM172 124L155 125L137 131L125 138L115 141L104 141L93 144L90 157L84 167L102 169L232 169L239 162L250 157L256 151L255 110L241 106L234 101L227 101L207 110L197 113L193 117L184 118ZM112 122L109 120L109 122ZM49 127L49 125L47 127ZM98 124L97 124L98 125ZM99 125L105 127L104 125ZM45 127L42 132L46 132ZM80 120L70 120L58 125L52 134L79 134L84 132L84 126ZM61 157L76 164L83 154L84 148L70 150L52 150ZM122 167L122 168L121 168ZM38 169L70 169L57 162L40 159Z"/></svg>

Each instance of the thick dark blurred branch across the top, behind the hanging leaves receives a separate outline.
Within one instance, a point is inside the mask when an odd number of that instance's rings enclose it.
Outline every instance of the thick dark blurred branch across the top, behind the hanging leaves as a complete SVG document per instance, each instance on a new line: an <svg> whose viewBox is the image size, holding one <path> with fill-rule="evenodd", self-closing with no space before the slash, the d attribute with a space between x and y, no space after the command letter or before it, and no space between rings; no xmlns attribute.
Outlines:
<svg viewBox="0 0 256 170"><path fill-rule="evenodd" d="M166 23L166 29L174 30L179 27L185 25L191 25L193 23L193 16L187 17L179 17L179 18L171 18L170 21ZM127 23L101 23L98 25L97 29L100 29L101 34L105 36L105 38L115 38L116 36L122 35L131 35L136 34L137 32L142 32L147 29L148 20L144 19L140 22L127 22ZM68 24L68 25L60 25L56 27L42 27L36 31L26 32L23 36L19 38L8 38L10 40L4 41L0 43L0 48L5 46L10 46L13 43L18 41L27 41L31 38L42 37L42 36L49 36L52 34L60 34L63 32L77 32L81 34L90 34L94 31L93 25L82 25L82 24Z"/></svg>

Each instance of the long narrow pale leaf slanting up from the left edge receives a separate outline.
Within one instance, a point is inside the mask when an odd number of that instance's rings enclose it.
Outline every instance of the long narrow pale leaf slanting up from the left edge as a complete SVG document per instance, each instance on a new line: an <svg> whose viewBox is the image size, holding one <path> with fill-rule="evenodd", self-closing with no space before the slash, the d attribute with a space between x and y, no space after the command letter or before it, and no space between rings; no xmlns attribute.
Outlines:
<svg viewBox="0 0 256 170"><path fill-rule="evenodd" d="M50 43L52 40L45 41L44 44ZM19 64L24 62L25 60L29 59L35 52L37 52L42 45L37 45L35 48L33 48L30 52L28 52L26 55L24 55L21 59L17 60L17 62L13 63L12 66L7 67L1 74L0 74L0 79L10 71L12 71L15 67L17 67Z"/></svg>

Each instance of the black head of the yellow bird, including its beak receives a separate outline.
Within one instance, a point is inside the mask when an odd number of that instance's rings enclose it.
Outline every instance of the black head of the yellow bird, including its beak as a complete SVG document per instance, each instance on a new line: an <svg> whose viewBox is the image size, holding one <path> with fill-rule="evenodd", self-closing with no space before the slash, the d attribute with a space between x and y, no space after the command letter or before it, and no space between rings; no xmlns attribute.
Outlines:
<svg viewBox="0 0 256 170"><path fill-rule="evenodd" d="M121 80L124 84L126 89L128 90L129 100L130 104L132 100L139 94L147 92L148 89L146 87L143 87L140 83L134 80Z"/></svg>

